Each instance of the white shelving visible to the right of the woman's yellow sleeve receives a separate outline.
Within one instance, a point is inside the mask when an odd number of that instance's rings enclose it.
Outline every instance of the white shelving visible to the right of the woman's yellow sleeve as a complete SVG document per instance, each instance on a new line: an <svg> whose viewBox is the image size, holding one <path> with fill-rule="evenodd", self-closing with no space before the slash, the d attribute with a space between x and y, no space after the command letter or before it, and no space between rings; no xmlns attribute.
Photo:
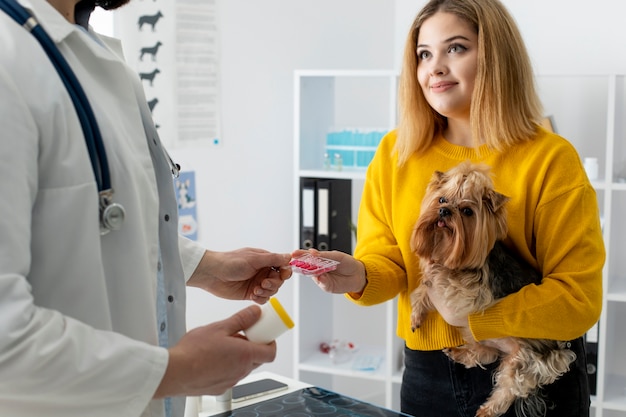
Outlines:
<svg viewBox="0 0 626 417"><path fill-rule="evenodd" d="M598 194L607 251L599 322L595 417L626 417L626 83L624 75L539 75L555 129L581 158L599 161Z"/></svg>

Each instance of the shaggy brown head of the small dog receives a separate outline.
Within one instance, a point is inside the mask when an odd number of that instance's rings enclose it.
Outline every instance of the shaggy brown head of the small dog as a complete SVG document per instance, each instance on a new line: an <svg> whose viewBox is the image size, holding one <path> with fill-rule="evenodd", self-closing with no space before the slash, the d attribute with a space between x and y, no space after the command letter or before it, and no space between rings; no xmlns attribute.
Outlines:
<svg viewBox="0 0 626 417"><path fill-rule="evenodd" d="M484 165L464 162L435 172L413 231L414 252L448 269L480 268L496 240L506 237L508 200L493 189Z"/></svg>

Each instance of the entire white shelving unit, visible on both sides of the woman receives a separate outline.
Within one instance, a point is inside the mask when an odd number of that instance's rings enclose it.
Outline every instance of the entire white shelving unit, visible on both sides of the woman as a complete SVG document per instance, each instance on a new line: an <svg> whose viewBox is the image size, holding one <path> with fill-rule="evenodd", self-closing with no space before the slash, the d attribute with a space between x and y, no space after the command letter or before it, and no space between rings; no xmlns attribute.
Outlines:
<svg viewBox="0 0 626 417"><path fill-rule="evenodd" d="M623 75L538 75L537 85L557 133L595 157L593 181L604 222L607 259L603 313L598 323L594 417L626 417L626 79ZM326 134L341 128L389 130L396 124L394 71L296 71L294 74L294 241L300 246L300 178L350 179L356 223L364 169L324 169ZM622 255L622 256L620 256ZM395 336L396 303L358 307L294 280L294 377L398 410L403 342ZM376 371L334 364L322 342L353 342L353 354L380 356Z"/></svg>

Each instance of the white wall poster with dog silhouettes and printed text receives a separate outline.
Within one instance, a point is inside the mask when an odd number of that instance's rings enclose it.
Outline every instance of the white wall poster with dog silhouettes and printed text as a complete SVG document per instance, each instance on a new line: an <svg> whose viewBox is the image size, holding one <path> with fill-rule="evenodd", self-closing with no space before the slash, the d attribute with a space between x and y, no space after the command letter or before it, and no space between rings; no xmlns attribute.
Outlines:
<svg viewBox="0 0 626 417"><path fill-rule="evenodd" d="M115 12L115 36L167 148L221 144L217 6L135 0Z"/></svg>

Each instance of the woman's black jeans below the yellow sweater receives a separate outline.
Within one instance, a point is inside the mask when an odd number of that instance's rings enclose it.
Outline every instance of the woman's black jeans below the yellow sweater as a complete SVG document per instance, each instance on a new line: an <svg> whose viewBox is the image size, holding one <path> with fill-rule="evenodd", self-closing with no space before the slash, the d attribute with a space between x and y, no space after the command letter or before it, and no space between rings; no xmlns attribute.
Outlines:
<svg viewBox="0 0 626 417"><path fill-rule="evenodd" d="M582 338L571 342L576 361L570 371L543 388L546 417L589 417L589 381ZM405 369L400 392L402 412L416 417L474 417L492 389L492 373L487 369L450 360L442 351L415 351L405 347ZM504 414L514 417L514 406Z"/></svg>

